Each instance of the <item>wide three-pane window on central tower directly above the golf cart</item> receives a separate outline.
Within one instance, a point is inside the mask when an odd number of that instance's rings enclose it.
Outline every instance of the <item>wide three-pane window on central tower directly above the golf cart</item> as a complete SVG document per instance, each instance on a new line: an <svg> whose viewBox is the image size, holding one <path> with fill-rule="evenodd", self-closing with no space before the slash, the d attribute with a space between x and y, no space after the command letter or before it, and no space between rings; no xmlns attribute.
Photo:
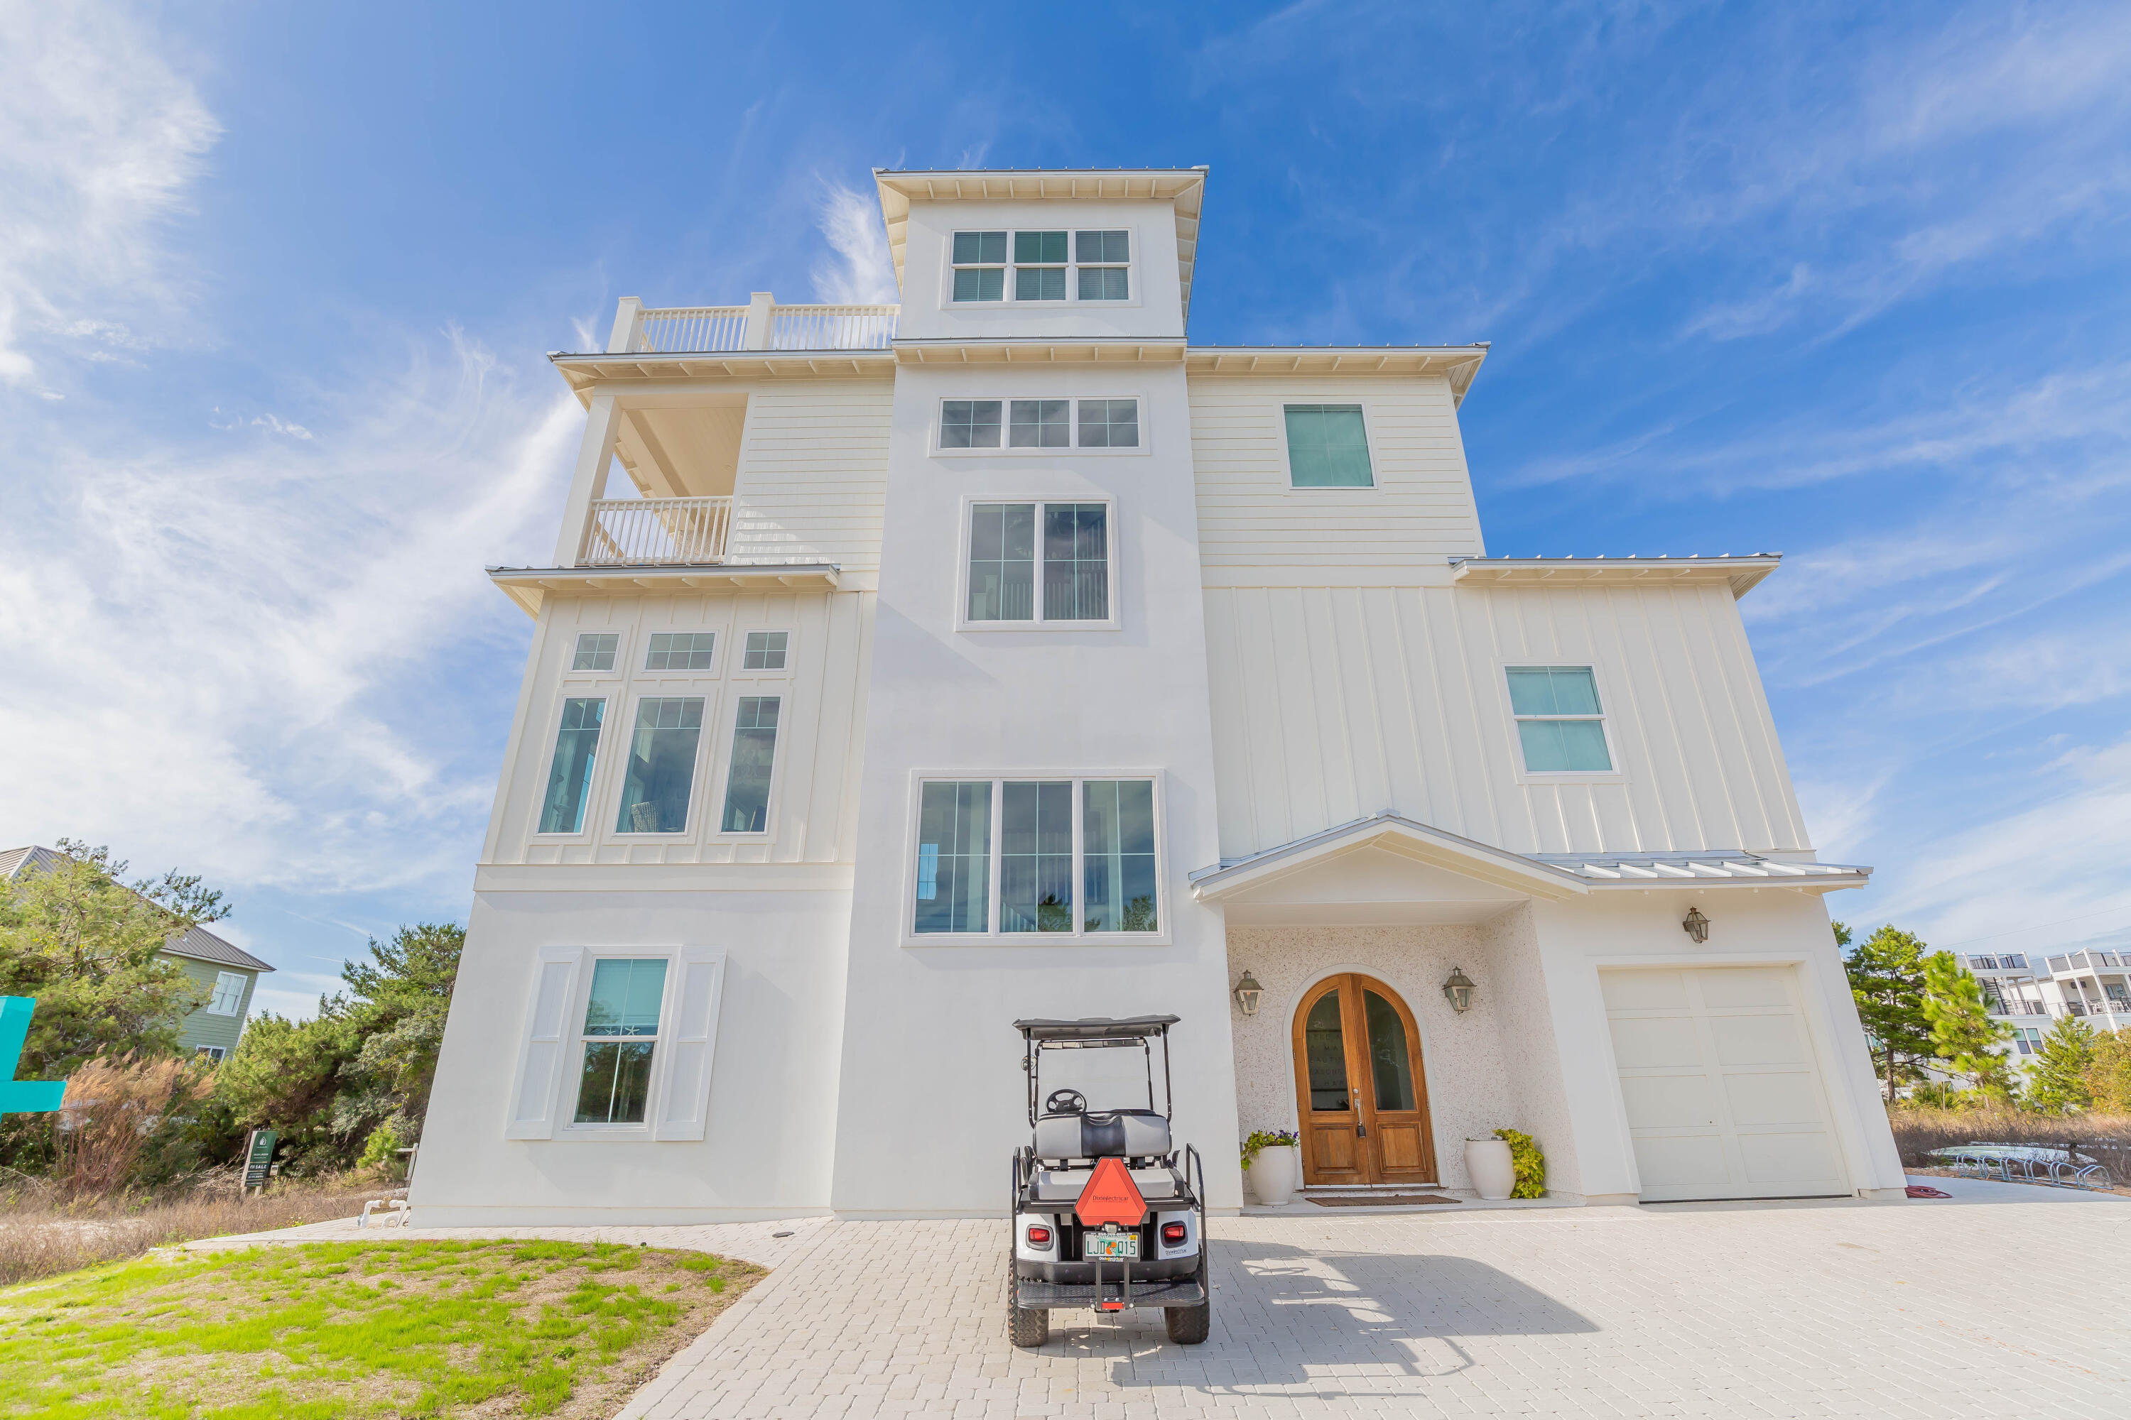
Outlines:
<svg viewBox="0 0 2131 1420"><path fill-rule="evenodd" d="M914 884L921 937L1159 932L1155 781L925 781Z"/></svg>

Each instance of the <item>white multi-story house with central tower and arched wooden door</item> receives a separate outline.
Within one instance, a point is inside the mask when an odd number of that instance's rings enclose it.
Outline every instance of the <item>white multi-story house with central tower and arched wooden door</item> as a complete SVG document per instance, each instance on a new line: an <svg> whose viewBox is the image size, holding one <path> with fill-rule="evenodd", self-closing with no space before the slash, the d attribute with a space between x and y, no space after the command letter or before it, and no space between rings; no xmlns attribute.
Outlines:
<svg viewBox="0 0 2131 1420"><path fill-rule="evenodd" d="M1204 185L880 172L899 307L554 356L426 1218L995 1211L1012 1022L1140 1013L1217 1207L1253 1128L1319 1188L1515 1126L1571 1201L1899 1194L1777 558L1490 558L1487 349L1193 345Z"/></svg>

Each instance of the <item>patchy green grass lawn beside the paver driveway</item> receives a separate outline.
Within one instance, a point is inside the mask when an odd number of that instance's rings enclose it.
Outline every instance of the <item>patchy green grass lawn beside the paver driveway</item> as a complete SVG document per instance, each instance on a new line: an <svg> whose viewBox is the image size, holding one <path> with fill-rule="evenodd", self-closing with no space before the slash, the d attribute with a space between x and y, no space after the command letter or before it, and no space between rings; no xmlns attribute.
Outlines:
<svg viewBox="0 0 2131 1420"><path fill-rule="evenodd" d="M614 1243L305 1243L0 1288L0 1416L612 1416L763 1269Z"/></svg>

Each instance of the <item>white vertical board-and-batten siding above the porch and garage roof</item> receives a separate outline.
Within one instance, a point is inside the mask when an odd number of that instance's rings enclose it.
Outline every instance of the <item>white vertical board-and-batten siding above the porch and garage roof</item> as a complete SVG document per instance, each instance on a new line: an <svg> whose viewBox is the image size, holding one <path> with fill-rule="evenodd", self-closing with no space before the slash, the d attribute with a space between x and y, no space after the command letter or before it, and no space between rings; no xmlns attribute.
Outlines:
<svg viewBox="0 0 2131 1420"><path fill-rule="evenodd" d="M1526 854L1809 847L1724 583L1208 588L1206 643L1223 858L1383 809ZM1504 664L1594 666L1617 773L1526 781Z"/></svg>

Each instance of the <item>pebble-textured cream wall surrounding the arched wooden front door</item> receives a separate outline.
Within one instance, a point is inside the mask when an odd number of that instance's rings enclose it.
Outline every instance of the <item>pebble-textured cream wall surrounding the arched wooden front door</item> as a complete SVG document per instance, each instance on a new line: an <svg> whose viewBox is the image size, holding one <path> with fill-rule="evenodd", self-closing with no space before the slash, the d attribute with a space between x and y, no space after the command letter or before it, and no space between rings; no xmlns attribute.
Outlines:
<svg viewBox="0 0 2131 1420"><path fill-rule="evenodd" d="M1362 971L1404 996L1421 1028L1438 1182L1468 1190L1466 1137L1492 1137L1504 1124L1536 1133L1524 1118L1524 1090L1515 1084L1522 1071L1507 1069L1502 1058L1498 1016L1509 1013L1526 1028L1526 1022L1543 1022L1547 1009L1545 1001L1513 998L1519 988L1536 988L1536 973L1496 971L1494 956L1509 945L1504 937L1477 926L1230 926L1230 984L1251 971L1266 988L1257 1016L1245 1016L1230 1001L1242 1130L1296 1126L1296 1005L1323 977ZM1479 986L1464 1016L1443 996L1451 967L1464 967Z"/></svg>

